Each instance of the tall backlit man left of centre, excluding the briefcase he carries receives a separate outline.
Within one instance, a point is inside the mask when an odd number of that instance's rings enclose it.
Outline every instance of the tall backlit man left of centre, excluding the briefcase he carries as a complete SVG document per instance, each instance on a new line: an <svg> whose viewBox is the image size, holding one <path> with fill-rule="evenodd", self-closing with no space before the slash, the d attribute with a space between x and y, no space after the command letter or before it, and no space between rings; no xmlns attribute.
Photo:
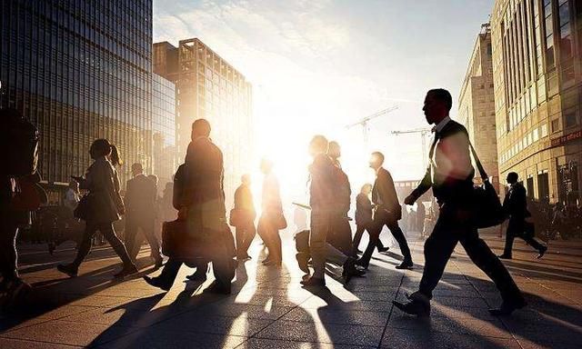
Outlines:
<svg viewBox="0 0 582 349"><path fill-rule="evenodd" d="M213 237L208 248L215 254L208 256L212 262L216 280L205 292L230 294L235 277L234 240L226 225L225 192L223 187L224 165L220 149L210 139L210 124L197 119L192 125L192 142L186 152L184 193L176 198L180 203L178 215L186 219L188 232ZM198 257L198 256L196 256ZM144 276L147 284L169 290L183 261L170 258L157 277ZM197 264L196 274L206 278L206 263ZM195 274L195 275L196 275ZM192 279L192 278L191 278Z"/></svg>

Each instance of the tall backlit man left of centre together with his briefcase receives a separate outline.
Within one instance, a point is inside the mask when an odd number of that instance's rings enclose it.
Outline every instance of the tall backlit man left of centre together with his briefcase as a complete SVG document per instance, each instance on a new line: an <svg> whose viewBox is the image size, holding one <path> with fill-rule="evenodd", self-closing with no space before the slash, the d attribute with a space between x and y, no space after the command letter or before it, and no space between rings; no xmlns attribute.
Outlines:
<svg viewBox="0 0 582 349"><path fill-rule="evenodd" d="M144 276L147 284L166 291L174 284L183 263L195 263L196 274L204 272L206 278L206 261L212 262L216 280L205 292L230 294L235 277L235 243L226 224L223 155L209 135L210 124L205 119L196 120L186 164L180 166L175 177L173 201L179 210L178 220L165 224L166 234L175 237L165 236L164 240L165 244L173 241L182 248L172 251L172 247L165 246L170 259L162 274L153 278ZM168 231L170 226L174 231Z"/></svg>

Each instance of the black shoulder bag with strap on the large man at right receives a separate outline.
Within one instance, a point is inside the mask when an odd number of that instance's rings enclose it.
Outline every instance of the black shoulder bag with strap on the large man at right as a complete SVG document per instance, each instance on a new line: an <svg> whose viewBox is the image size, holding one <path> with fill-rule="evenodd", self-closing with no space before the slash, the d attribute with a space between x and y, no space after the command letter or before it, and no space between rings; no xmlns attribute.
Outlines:
<svg viewBox="0 0 582 349"><path fill-rule="evenodd" d="M477 165L479 175L481 175L481 179L483 180L483 184L473 188L474 222L477 225L477 228L488 228L502 224L506 219L503 205L499 200L499 196L497 195L493 184L489 182L487 172L485 172L485 168L483 168L483 165L477 156L477 152L470 141L469 148L471 149L471 154Z"/></svg>

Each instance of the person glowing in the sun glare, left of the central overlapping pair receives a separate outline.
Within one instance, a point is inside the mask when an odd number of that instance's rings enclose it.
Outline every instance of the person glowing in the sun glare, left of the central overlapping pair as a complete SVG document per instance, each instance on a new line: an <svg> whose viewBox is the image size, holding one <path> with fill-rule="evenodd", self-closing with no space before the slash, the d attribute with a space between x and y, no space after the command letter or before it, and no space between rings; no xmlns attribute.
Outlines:
<svg viewBox="0 0 582 349"><path fill-rule="evenodd" d="M256 230L265 242L268 255L263 261L264 265L281 265L281 236L279 229L283 228L282 222L283 205L281 204L281 194L279 193L279 181L273 173L273 163L264 159L261 161L261 172L265 175L263 179L263 212L258 220ZM285 224L286 225L286 224Z"/></svg>

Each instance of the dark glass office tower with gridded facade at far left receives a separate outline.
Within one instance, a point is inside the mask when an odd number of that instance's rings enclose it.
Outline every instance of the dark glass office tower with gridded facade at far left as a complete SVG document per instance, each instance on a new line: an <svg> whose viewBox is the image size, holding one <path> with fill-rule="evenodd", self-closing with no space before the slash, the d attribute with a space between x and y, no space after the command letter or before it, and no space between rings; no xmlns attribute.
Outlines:
<svg viewBox="0 0 582 349"><path fill-rule="evenodd" d="M149 170L152 1L0 4L0 107L37 125L45 180L82 175L100 137ZM119 172L125 180L128 166Z"/></svg>

